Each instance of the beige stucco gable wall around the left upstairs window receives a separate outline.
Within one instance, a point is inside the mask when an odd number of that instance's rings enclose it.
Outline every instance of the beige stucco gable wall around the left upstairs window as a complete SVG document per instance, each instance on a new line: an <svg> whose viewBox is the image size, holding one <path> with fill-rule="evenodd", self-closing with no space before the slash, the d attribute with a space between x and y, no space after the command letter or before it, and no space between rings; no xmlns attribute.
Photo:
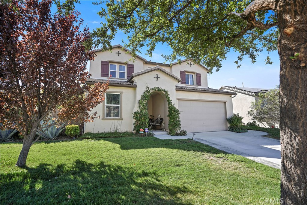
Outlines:
<svg viewBox="0 0 307 205"><path fill-rule="evenodd" d="M118 56L116 54L119 51L119 53L122 53ZM98 78L98 79L107 79L107 77L101 77L101 61L115 61L117 64L134 64L134 73L139 72L143 70L143 61L140 58L136 58L135 61L128 61L132 56L129 53L126 53L125 51L121 49L113 49L112 53L110 51L99 51L95 53L97 56L95 57L94 61L90 61L90 73L91 78ZM127 69L127 68L126 68ZM128 76L129 77L129 76Z"/></svg>

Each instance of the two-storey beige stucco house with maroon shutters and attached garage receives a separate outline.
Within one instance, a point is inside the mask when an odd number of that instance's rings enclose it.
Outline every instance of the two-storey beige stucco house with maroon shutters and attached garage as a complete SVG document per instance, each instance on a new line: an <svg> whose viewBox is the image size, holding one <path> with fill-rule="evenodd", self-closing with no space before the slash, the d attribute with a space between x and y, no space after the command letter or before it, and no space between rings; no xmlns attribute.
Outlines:
<svg viewBox="0 0 307 205"><path fill-rule="evenodd" d="M123 49L123 50L122 50ZM97 57L90 62L91 78L86 84L109 81L109 90L97 111L100 119L85 124L85 132L132 131L133 115L146 89L167 90L172 103L182 111L181 129L187 132L227 130L226 118L232 116L234 92L208 88L208 69L185 60L181 64L157 63L137 56L134 62L130 51L115 45L112 52L95 50ZM168 105L163 92L153 92L148 101L148 114L161 115L168 130Z"/></svg>

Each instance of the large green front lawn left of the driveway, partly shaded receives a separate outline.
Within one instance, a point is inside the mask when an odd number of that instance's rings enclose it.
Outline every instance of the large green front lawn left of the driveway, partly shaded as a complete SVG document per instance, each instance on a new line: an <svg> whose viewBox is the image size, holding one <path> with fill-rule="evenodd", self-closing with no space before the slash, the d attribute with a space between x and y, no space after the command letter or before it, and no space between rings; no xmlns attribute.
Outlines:
<svg viewBox="0 0 307 205"><path fill-rule="evenodd" d="M20 143L1 143L1 204L254 205L279 199L280 170L193 140L39 142L26 168L14 166L20 150Z"/></svg>

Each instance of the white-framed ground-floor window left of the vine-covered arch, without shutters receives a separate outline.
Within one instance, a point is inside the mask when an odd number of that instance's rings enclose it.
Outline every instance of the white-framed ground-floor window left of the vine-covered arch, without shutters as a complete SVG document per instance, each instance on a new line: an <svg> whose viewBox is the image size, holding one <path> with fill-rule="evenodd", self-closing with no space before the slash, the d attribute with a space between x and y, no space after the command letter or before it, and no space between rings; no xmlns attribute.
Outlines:
<svg viewBox="0 0 307 205"><path fill-rule="evenodd" d="M105 118L120 118L120 93L106 93Z"/></svg>

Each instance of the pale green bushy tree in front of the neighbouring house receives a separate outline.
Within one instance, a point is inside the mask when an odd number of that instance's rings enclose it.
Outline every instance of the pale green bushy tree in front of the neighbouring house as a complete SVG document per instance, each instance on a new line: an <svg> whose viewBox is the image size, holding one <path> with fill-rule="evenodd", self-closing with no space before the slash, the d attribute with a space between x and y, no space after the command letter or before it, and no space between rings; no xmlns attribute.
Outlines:
<svg viewBox="0 0 307 205"><path fill-rule="evenodd" d="M248 111L248 116L261 123L279 123L280 108L278 93L278 86L266 93L259 93L256 101L251 102L251 110Z"/></svg>

